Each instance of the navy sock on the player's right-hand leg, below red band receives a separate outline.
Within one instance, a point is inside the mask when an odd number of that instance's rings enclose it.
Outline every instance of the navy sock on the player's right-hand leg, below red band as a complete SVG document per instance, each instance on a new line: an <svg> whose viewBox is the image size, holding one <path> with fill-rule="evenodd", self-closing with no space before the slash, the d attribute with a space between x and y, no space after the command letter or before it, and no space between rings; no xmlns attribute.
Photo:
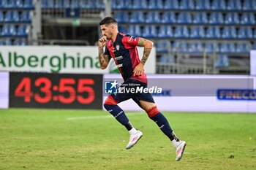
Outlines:
<svg viewBox="0 0 256 170"><path fill-rule="evenodd" d="M173 139L173 129L170 128L170 125L165 118L164 115L162 115L161 112L157 113L157 115L154 115L150 117L151 120L154 120L155 123L157 123L158 127L161 129L161 131L170 139ZM172 139L171 139L172 138Z"/></svg>

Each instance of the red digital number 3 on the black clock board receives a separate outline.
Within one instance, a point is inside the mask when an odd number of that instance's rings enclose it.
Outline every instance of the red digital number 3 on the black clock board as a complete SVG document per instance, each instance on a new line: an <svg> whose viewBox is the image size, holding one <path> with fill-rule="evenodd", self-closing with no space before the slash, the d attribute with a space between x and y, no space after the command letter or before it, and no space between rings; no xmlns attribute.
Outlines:
<svg viewBox="0 0 256 170"><path fill-rule="evenodd" d="M45 104L45 103L48 103L51 99L51 96L52 96L52 93L50 91L50 87L51 87L51 82L48 78L45 78L45 77L41 77L39 79L37 79L35 82L34 82L34 85L36 87L39 87L41 85L43 85L41 88L40 88L40 92L44 93L44 96L40 96L39 94L34 94L34 100L39 102L39 103L42 103L42 104Z"/></svg>

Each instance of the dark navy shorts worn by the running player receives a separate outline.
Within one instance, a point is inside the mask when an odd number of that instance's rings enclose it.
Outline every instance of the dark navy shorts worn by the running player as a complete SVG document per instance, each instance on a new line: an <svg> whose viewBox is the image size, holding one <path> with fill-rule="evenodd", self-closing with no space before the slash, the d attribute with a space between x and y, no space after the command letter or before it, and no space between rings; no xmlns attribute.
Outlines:
<svg viewBox="0 0 256 170"><path fill-rule="evenodd" d="M123 82L118 89L121 89L121 93L115 93L111 94L111 96L118 102L126 101L129 98L132 98L133 101L135 101L140 106L140 100L142 101L148 101L151 103L154 103L154 98L151 95L151 93L144 93L144 91L141 92L141 90L138 90L136 93L137 88L147 88L148 84L144 82L140 82L138 80L132 80L128 79L127 81ZM132 88L135 89L132 93ZM141 106L140 106L141 107Z"/></svg>

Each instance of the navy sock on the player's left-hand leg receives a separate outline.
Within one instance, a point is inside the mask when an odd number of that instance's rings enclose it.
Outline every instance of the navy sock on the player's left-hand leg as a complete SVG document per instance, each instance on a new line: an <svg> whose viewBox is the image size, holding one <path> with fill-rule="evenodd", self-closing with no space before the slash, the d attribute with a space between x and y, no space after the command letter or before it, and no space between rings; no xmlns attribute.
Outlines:
<svg viewBox="0 0 256 170"><path fill-rule="evenodd" d="M113 117L116 118L116 120L118 120L119 123L124 125L128 131L132 129L132 125L129 123L128 117L124 114L124 111L118 107L118 105L104 104L104 107L111 115L113 115Z"/></svg>

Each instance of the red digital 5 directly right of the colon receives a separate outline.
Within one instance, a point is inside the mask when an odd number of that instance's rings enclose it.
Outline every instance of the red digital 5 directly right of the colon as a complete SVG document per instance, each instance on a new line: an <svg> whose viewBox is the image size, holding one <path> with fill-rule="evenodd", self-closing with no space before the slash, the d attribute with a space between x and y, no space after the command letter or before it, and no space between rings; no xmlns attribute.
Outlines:
<svg viewBox="0 0 256 170"><path fill-rule="evenodd" d="M59 82L59 92L69 93L69 96L66 98L63 95L59 95L59 101L64 104L71 104L73 101L75 101L75 89L72 87L72 85L75 85L75 80L72 78L63 78Z"/></svg>

